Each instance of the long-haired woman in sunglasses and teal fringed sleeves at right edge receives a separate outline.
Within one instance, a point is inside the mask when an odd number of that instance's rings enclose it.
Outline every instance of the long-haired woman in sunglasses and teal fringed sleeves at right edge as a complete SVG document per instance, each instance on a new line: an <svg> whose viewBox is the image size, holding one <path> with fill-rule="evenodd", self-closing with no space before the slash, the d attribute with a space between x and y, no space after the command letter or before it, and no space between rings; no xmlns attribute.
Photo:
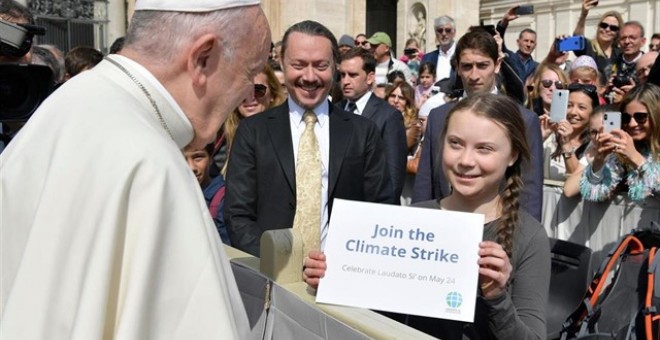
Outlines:
<svg viewBox="0 0 660 340"><path fill-rule="evenodd" d="M660 195L660 87L646 83L630 91L621 123L598 137L598 153L580 179L586 200L608 200L619 187L634 201Z"/></svg>

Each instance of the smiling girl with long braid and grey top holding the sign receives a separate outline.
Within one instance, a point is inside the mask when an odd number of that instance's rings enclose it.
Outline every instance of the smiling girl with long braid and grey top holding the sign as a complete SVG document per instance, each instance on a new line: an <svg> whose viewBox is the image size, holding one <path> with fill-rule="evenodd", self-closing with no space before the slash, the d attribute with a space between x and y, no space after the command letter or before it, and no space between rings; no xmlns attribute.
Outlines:
<svg viewBox="0 0 660 340"><path fill-rule="evenodd" d="M506 96L469 96L450 111L441 138L452 193L416 206L485 216L475 319L408 316L406 323L442 339L545 339L550 247L541 224L519 209L530 153L518 106ZM325 255L310 253L303 278L316 286L325 268ZM430 301L441 303L419 303Z"/></svg>

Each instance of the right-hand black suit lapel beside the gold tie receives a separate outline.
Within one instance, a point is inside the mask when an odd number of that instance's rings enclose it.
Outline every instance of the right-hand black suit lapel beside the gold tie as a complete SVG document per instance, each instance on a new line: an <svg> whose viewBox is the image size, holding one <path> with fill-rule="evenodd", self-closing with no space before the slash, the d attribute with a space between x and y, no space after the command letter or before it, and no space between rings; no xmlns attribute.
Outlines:
<svg viewBox="0 0 660 340"><path fill-rule="evenodd" d="M330 183L328 196L332 197L346 149L353 138L353 114L330 104Z"/></svg>

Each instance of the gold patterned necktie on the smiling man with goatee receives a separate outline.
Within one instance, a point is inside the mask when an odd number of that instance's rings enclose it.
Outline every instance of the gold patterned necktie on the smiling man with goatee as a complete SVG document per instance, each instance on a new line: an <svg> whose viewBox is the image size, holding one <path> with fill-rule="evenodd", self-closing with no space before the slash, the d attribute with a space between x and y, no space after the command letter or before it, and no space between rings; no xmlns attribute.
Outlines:
<svg viewBox="0 0 660 340"><path fill-rule="evenodd" d="M321 250L321 152L314 134L317 118L314 111L303 115L305 131L298 144L296 161L296 216L293 228L303 238L303 254L310 250Z"/></svg>

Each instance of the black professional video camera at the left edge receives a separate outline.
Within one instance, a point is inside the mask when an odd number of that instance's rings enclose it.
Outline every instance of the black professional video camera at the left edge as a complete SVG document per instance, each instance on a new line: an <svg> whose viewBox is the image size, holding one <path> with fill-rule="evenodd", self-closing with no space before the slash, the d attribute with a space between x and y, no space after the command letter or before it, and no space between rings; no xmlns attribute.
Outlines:
<svg viewBox="0 0 660 340"><path fill-rule="evenodd" d="M47 66L17 64L32 48L34 35L46 29L13 24L0 19L0 121L27 121L53 89L53 72ZM4 62L4 60L8 60Z"/></svg>

